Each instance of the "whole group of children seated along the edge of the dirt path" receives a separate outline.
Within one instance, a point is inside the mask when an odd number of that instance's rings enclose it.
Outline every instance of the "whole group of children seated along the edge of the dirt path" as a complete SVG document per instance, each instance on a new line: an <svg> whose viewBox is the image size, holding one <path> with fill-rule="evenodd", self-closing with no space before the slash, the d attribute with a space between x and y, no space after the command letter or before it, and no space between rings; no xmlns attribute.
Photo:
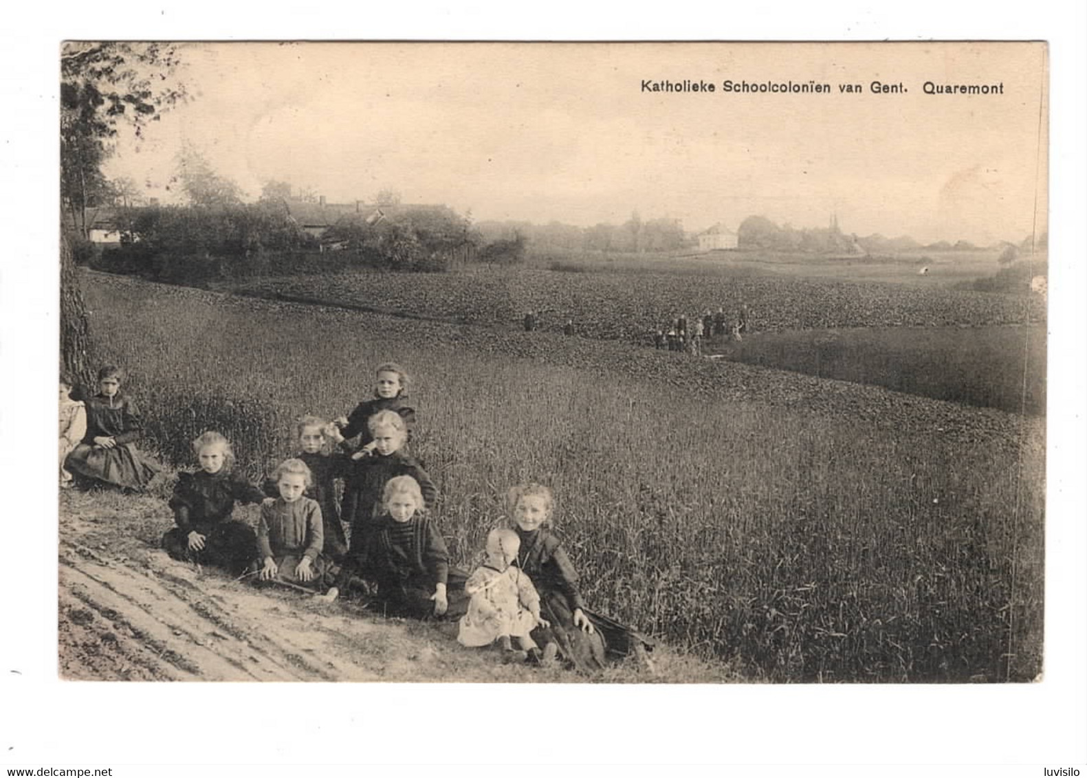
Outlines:
<svg viewBox="0 0 1087 778"><path fill-rule="evenodd" d="M166 552L311 591L325 602L350 591L389 615L457 619L463 645L497 645L508 661L548 664L559 657L595 670L609 655L651 648L635 630L586 607L577 573L550 529L554 501L544 486L509 490L509 525L488 535L478 569L468 574L450 565L433 513L437 488L405 451L415 423L408 376L386 363L376 378L374 397L349 415L299 419L298 452L261 487L235 468L223 435L208 431L192 441L199 467L178 475L170 499L176 526L162 538ZM101 392L80 404L68 398L71 379L62 375L62 486L72 470L141 489L158 472L133 444L141 425L132 400L118 391L122 379L120 369L103 368ZM255 531L234 519L237 503L260 504Z"/></svg>

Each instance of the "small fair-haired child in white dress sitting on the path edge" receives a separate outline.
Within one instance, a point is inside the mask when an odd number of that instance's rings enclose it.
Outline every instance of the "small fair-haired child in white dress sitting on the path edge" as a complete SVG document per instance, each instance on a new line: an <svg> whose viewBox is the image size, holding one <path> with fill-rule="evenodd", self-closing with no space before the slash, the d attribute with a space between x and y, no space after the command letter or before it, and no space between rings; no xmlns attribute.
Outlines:
<svg viewBox="0 0 1087 778"><path fill-rule="evenodd" d="M461 617L457 640L473 648L497 640L508 661L547 664L554 658L554 647L549 644L551 651L542 652L529 636L537 625L549 625L540 617L536 587L512 564L520 549L521 539L512 529L492 529L487 536L487 562L464 585L472 601ZM511 638L517 639L520 650L514 650Z"/></svg>

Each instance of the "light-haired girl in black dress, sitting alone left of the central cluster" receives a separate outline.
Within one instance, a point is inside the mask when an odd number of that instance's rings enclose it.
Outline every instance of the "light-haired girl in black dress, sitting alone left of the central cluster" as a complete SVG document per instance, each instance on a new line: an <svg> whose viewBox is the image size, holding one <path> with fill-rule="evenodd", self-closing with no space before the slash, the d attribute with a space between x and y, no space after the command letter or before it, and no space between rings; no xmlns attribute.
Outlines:
<svg viewBox="0 0 1087 778"><path fill-rule="evenodd" d="M176 527L162 536L162 548L175 560L213 565L238 575L253 559L257 535L233 520L234 503L259 503L264 492L234 470L230 441L204 432L192 441L200 463L196 473L178 473L170 507Z"/></svg>

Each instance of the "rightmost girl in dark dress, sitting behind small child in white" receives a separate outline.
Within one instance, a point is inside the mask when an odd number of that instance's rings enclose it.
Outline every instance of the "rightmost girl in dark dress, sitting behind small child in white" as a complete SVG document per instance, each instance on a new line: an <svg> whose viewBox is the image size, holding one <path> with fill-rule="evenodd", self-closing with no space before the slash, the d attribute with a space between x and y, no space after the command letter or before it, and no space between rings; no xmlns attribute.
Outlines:
<svg viewBox="0 0 1087 778"><path fill-rule="evenodd" d="M550 489L539 484L515 486L507 492L507 509L521 540L517 567L528 574L540 594L545 622L532 637L545 651L553 651L548 644L554 643L570 664L591 672L603 667L605 653L641 656L652 649L652 641L634 629L586 610L574 565L549 529L554 512Z"/></svg>

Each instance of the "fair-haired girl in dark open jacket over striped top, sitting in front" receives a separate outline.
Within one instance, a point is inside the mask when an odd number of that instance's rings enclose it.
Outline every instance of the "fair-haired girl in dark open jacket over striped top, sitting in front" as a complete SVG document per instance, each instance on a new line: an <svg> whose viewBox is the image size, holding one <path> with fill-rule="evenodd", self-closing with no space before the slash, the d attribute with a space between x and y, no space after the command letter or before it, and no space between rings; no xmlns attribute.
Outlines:
<svg viewBox="0 0 1087 778"><path fill-rule="evenodd" d="M449 599L449 551L427 515L418 481L411 476L390 478L383 494L384 511L374 522L373 537L361 569L377 584L377 602L386 614L413 618L461 615L466 605L464 576L454 576ZM342 576L341 576L342 579ZM328 590L332 602L345 585Z"/></svg>

